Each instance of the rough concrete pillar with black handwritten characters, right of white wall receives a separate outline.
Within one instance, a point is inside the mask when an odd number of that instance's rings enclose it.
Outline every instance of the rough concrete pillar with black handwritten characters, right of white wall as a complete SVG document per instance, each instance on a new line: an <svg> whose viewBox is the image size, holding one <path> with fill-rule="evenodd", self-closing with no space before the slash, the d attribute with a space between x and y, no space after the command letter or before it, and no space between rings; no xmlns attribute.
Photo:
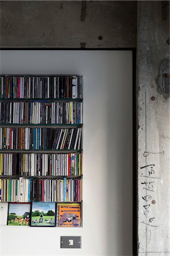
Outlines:
<svg viewBox="0 0 170 256"><path fill-rule="evenodd" d="M170 255L170 104L169 97L160 93L163 79L159 79L162 60L169 59L169 18L167 12L165 19L162 4L138 3L139 256Z"/></svg>

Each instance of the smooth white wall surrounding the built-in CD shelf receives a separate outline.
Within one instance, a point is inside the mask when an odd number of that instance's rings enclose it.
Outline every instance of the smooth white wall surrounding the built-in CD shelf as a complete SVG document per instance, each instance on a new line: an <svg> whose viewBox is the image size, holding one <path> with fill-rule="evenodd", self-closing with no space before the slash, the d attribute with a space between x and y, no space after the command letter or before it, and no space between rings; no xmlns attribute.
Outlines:
<svg viewBox="0 0 170 256"><path fill-rule="evenodd" d="M83 75L83 228L1 227L0 255L132 255L131 51L1 51L7 74ZM82 249L60 249L82 236Z"/></svg>

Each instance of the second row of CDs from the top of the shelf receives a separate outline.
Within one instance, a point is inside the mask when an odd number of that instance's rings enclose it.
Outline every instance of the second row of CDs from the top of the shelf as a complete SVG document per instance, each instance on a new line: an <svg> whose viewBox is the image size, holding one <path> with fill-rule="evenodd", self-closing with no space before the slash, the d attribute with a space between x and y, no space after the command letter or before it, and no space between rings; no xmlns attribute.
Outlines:
<svg viewBox="0 0 170 256"><path fill-rule="evenodd" d="M1 123L82 123L82 102L0 102Z"/></svg>

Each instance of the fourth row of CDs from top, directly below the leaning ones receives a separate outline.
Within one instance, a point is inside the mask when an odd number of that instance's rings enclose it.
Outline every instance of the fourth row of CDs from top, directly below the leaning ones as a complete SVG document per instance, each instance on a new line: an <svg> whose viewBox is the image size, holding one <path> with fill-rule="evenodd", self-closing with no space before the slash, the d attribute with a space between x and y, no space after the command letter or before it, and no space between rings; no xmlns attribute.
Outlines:
<svg viewBox="0 0 170 256"><path fill-rule="evenodd" d="M0 175L80 176L82 154L0 154Z"/></svg>

